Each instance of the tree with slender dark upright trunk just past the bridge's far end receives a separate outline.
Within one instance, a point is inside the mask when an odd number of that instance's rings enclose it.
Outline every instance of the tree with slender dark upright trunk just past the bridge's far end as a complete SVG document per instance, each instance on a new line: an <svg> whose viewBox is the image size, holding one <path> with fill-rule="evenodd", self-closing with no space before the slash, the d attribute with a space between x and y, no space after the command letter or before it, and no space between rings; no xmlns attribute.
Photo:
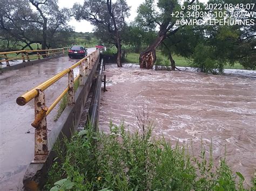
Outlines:
<svg viewBox="0 0 256 191"><path fill-rule="evenodd" d="M77 20L84 19L96 26L100 40L117 47L117 66L122 67L122 31L126 27L125 18L130 15L126 1L85 0L83 6L73 5L73 11Z"/></svg>

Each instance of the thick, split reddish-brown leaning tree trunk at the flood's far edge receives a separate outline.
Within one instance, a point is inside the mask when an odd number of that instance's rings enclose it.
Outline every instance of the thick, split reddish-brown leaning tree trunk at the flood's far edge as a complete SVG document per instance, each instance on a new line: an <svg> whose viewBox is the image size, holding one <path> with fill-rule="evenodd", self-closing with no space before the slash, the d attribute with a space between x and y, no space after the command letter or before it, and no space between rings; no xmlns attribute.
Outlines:
<svg viewBox="0 0 256 191"><path fill-rule="evenodd" d="M158 38L152 43L145 51L139 55L139 67L151 69L154 66L154 62L157 60L156 48L164 40L165 35L158 36Z"/></svg>

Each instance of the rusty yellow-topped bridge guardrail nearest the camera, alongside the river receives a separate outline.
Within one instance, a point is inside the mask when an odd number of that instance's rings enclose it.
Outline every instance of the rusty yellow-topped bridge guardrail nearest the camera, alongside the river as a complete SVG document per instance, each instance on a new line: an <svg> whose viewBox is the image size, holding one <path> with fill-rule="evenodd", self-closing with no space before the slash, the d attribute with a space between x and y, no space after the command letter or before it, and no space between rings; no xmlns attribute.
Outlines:
<svg viewBox="0 0 256 191"><path fill-rule="evenodd" d="M33 162L45 162L48 155L48 131L46 116L50 114L53 108L56 107L58 102L63 96L68 93L68 105L75 104L75 89L74 83L79 80L79 86L84 85L84 78L89 75L90 70L99 58L99 50L92 52L82 60L79 60L69 68L64 69L62 72L51 77L49 80L39 84L37 87L26 92L22 96L19 96L16 100L18 105L25 105L35 98L35 120L32 122L32 126L35 128L35 157ZM79 66L79 74L74 79L73 69ZM44 90L50 87L53 83L57 82L64 75L68 74L68 87L60 94L56 100L46 107Z"/></svg>

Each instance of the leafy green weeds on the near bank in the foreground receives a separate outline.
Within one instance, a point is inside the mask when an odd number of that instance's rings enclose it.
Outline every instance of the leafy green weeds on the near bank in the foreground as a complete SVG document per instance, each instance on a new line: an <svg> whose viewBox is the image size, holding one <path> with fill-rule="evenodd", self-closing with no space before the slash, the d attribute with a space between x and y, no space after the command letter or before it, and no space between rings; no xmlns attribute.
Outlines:
<svg viewBox="0 0 256 191"><path fill-rule="evenodd" d="M225 158L214 167L211 145L209 156L202 146L200 156L193 157L184 146L154 139L152 126L144 122L134 133L110 123L109 134L89 126L64 144L57 142L45 189L245 190L244 177L233 173ZM252 184L253 190L255 178Z"/></svg>

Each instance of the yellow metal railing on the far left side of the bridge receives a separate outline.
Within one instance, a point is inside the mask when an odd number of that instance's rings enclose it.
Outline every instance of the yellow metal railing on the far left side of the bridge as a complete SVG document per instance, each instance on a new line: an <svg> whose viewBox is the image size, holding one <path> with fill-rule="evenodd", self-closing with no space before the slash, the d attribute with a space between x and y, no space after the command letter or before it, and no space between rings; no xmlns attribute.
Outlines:
<svg viewBox="0 0 256 191"><path fill-rule="evenodd" d="M58 55L59 53L64 54L65 52L68 52L69 47L64 47L64 48L55 48L55 49L35 49L35 50L30 50L30 51L11 51L11 52L0 52L0 55L4 55L4 60L0 60L0 64L2 62L6 62L6 66L10 66L9 61L10 60L18 60L22 59L23 62L30 61L30 58L32 57L37 57L37 59L41 59L41 56L50 57L50 56L55 56ZM36 54L32 54L35 53ZM14 54L16 53L21 54L19 57L12 57L8 58L9 54Z"/></svg>

